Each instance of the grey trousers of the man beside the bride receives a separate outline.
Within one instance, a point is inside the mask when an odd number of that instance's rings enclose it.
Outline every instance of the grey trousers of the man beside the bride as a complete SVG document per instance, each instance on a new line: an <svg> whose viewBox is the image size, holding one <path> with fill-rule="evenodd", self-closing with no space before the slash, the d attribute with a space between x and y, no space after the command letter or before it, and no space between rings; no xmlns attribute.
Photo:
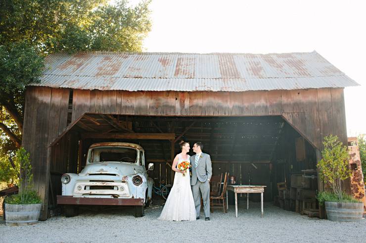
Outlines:
<svg viewBox="0 0 366 243"><path fill-rule="evenodd" d="M196 216L199 217L202 195L203 211L205 213L205 217L210 217L210 182L208 180L206 180L205 182L197 180L197 183L192 186L192 194L194 199L194 206L196 207Z"/></svg>

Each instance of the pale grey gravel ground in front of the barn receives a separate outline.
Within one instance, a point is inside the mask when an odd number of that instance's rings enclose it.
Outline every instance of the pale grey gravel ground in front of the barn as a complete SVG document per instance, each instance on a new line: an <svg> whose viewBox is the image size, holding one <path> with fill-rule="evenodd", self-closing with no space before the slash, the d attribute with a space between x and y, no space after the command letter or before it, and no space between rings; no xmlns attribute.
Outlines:
<svg viewBox="0 0 366 243"><path fill-rule="evenodd" d="M131 208L84 210L76 217L55 216L31 226L9 227L0 223L0 242L366 242L366 220L357 223L309 218L265 204L249 210L239 205L228 213L215 210L211 221L165 222L157 220L161 206L135 218Z"/></svg>

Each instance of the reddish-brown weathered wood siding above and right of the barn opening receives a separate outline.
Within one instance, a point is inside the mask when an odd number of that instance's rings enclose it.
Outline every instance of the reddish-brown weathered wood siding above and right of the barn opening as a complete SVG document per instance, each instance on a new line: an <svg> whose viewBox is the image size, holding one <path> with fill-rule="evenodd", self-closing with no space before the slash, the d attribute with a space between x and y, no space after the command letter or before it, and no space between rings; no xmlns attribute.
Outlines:
<svg viewBox="0 0 366 243"><path fill-rule="evenodd" d="M128 92L74 90L75 121L83 113L169 116L282 115L304 138L321 148L337 135L347 144L343 89L248 92Z"/></svg>

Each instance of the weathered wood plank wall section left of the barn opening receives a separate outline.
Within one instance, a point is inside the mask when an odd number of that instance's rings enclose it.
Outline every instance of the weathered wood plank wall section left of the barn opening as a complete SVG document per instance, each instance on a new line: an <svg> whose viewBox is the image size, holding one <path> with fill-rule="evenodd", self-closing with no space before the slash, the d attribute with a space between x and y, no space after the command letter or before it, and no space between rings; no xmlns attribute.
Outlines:
<svg viewBox="0 0 366 243"><path fill-rule="evenodd" d="M28 87L26 91L22 145L31 154L34 187L44 201L41 220L47 218L51 156L48 144L66 127L68 100L67 89Z"/></svg>

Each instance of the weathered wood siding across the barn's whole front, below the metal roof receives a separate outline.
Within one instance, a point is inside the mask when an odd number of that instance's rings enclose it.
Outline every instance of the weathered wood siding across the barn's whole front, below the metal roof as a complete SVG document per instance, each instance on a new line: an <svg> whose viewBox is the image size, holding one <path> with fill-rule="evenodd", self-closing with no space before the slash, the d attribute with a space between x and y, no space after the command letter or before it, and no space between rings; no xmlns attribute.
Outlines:
<svg viewBox="0 0 366 243"><path fill-rule="evenodd" d="M59 147L47 148L66 128L69 94L68 89L46 87L28 87L26 91L22 143L31 153L34 184L44 199L44 209L47 208L51 164L52 171L62 170L60 173L63 173L66 163L76 159L78 139L75 136L69 141L60 141ZM319 149L322 139L329 134L337 135L347 144L342 88L248 92L74 90L72 121L85 112L167 116L281 115ZM68 152L60 152L64 149ZM41 219L46 216L46 210L43 210Z"/></svg>

